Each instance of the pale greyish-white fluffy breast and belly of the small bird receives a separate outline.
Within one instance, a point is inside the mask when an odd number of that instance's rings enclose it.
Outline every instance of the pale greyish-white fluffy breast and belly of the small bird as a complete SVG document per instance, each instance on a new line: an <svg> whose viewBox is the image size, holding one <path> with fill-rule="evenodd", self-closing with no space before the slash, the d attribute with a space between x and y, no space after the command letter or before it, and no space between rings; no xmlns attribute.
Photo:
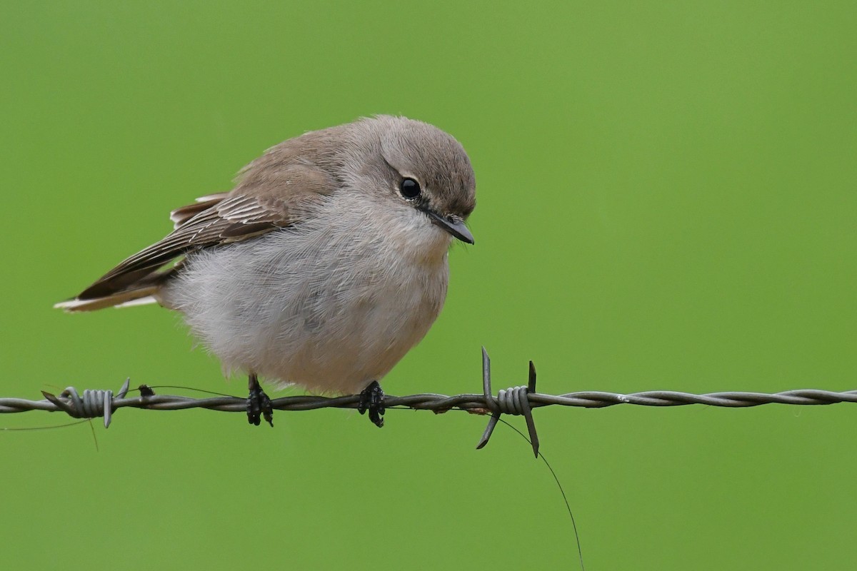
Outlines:
<svg viewBox="0 0 857 571"><path fill-rule="evenodd" d="M378 206L340 195L293 228L191 254L159 298L227 370L359 392L423 338L448 281L449 235Z"/></svg>

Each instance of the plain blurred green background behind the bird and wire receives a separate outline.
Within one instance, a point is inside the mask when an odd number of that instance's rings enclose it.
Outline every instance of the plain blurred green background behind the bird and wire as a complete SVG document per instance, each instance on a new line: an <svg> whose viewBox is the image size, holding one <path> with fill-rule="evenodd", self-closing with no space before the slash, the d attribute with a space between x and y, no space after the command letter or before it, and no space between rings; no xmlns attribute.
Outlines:
<svg viewBox="0 0 857 571"><path fill-rule="evenodd" d="M854 3L3 2L0 396L244 394L158 307L51 304L303 131L470 153L473 247L391 394L857 388ZM165 391L171 392L171 391ZM485 418L123 409L0 432L5 568L577 568ZM851 569L853 406L536 411L587 568ZM32 412L0 426L67 421ZM511 419L523 427L521 419Z"/></svg>

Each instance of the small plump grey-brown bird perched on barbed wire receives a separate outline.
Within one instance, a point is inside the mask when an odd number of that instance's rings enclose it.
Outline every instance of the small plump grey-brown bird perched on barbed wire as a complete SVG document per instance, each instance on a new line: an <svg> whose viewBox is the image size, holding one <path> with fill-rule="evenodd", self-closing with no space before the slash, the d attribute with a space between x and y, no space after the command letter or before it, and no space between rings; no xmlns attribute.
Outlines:
<svg viewBox="0 0 857 571"><path fill-rule="evenodd" d="M229 192L171 211L174 228L55 306L158 303L183 315L226 375L248 376L249 423L273 426L259 378L360 395L384 424L380 381L440 314L476 177L452 135L404 116L309 131L256 158Z"/></svg>

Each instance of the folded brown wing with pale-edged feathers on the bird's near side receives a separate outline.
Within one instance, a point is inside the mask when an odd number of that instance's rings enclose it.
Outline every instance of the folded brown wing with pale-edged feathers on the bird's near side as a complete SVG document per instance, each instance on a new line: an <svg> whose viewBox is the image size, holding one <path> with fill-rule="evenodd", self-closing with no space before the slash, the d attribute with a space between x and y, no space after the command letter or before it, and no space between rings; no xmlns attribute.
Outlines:
<svg viewBox="0 0 857 571"><path fill-rule="evenodd" d="M276 180L260 187L239 185L231 193L214 194L171 212L176 228L129 259L125 259L79 294L91 300L151 283L159 269L201 247L242 241L286 228L333 190L329 176L305 165L279 170Z"/></svg>

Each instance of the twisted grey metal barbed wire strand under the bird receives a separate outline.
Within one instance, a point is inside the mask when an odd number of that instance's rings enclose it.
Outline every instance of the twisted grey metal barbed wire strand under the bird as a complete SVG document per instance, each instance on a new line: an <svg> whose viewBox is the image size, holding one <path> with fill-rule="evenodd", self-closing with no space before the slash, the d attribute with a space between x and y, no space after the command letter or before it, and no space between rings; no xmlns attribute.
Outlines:
<svg viewBox="0 0 857 571"><path fill-rule="evenodd" d="M183 410L186 408L207 408L228 413L246 413L247 399L238 396L213 396L193 398L178 395L156 395L152 388L141 384L137 390L140 396L129 397L130 379L126 379L119 392L111 390L84 390L82 395L74 387L63 390L59 396L42 391L44 400L31 401L21 398L0 397L0 413L24 413L33 410L48 412L63 411L74 418L92 419L104 417L105 428L111 424L112 413L119 408L132 407L147 410ZM284 396L272 399L276 410L315 410L318 408L358 408L361 397L351 396ZM562 407L602 408L620 404L632 404L644 407L680 407L692 404L704 404L711 407L758 407L764 404L790 405L828 405L837 402L857 402L857 390L836 392L832 390L800 389L779 393L756 393L727 391L694 395L674 390L647 390L644 392L620 394L602 391L580 391L564 395L545 395L536 392L536 367L530 361L528 384L500 390L494 396L491 390L491 361L488 352L482 348L482 394L438 395L422 393L410 396L384 396L386 408L411 408L445 413L449 410L464 410L474 414L490 414L488 427L482 434L476 448L481 449L488 443L494 431L494 425L500 415L516 414L524 417L530 432L533 452L538 457L539 440L532 409L558 405Z"/></svg>

